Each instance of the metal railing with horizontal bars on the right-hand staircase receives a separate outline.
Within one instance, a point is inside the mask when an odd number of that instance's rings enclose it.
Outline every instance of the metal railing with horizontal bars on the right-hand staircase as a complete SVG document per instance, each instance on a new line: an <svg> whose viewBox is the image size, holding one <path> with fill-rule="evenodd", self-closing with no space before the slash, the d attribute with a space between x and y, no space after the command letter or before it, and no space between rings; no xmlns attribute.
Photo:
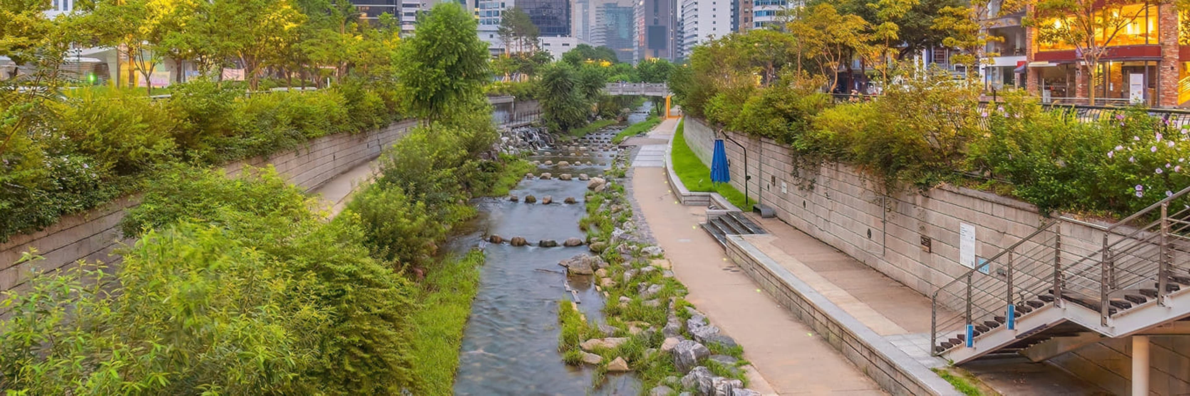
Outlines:
<svg viewBox="0 0 1190 396"><path fill-rule="evenodd" d="M1048 302L1097 309L1103 326L1132 306L1119 301L1126 295L1154 296L1164 304L1176 290L1175 274L1190 271L1188 194L1190 188L1173 193L1109 226L1070 218L1047 221L988 259L987 269L977 264L942 284L931 296L933 353L973 342L967 337L1008 326ZM1063 224L1102 232L1102 244L1063 240Z"/></svg>

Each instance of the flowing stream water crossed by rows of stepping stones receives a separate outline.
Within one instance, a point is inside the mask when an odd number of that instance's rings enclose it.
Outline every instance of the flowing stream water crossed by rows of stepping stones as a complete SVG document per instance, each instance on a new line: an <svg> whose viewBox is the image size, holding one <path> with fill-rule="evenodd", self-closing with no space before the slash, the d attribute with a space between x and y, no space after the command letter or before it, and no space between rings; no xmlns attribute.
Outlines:
<svg viewBox="0 0 1190 396"><path fill-rule="evenodd" d="M632 114L631 119L643 120ZM570 143L576 146L602 147L610 144L615 130L591 133ZM576 156L570 156L574 151ZM550 155L545 155L549 152ZM558 262L585 253L587 246L538 247L488 244L487 235L506 240L524 237L536 245L541 239L559 244L566 238L584 239L578 220L585 214L583 195L587 182L578 174L591 177L602 174L610 164L614 151L565 150L547 147L530 161L566 161L571 164L591 162L591 165L539 165L534 175L550 172L551 180L522 180L511 191L519 197L534 195L537 203L512 202L507 199L482 199L480 215L470 224L470 232L452 240L455 251L480 246L487 253L480 277L480 290L471 306L471 318L463 333L459 367L455 379L456 395L635 395L640 383L631 375L607 377L599 389L591 389L594 369L576 367L563 363L558 352L558 301L574 300L568 288L577 291L578 308L589 321L601 321L603 296L591 285L589 277L571 278ZM599 165L603 163L605 165ZM558 180L571 174L574 180ZM541 205L550 195L555 203ZM574 197L577 203L562 201Z"/></svg>

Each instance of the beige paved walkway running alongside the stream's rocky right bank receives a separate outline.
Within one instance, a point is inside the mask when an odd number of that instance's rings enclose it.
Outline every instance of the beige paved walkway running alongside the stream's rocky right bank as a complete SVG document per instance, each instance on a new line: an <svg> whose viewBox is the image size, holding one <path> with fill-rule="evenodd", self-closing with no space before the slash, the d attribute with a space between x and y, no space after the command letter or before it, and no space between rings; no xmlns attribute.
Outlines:
<svg viewBox="0 0 1190 396"><path fill-rule="evenodd" d="M654 130L672 133L677 120ZM654 137L650 133L650 137ZM652 145L641 146L654 151ZM660 145L664 152L664 145ZM687 298L744 347L744 358L756 366L771 389L768 395L883 395L860 372L808 326L762 293L722 247L699 227L704 208L679 205L660 164L643 163L632 170L632 196L645 222L687 285ZM752 381L756 386L759 381Z"/></svg>

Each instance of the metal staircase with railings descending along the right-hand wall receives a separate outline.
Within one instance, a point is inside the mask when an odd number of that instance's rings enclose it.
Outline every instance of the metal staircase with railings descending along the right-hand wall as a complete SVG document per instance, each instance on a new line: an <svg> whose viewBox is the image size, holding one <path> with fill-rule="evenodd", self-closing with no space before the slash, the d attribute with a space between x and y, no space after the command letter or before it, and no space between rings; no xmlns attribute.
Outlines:
<svg viewBox="0 0 1190 396"><path fill-rule="evenodd" d="M1110 226L1048 221L944 284L932 296L934 353L959 364L1054 338L1094 340L1088 331L1127 337L1190 316L1188 193ZM1101 232L1102 244L1064 234L1066 224Z"/></svg>

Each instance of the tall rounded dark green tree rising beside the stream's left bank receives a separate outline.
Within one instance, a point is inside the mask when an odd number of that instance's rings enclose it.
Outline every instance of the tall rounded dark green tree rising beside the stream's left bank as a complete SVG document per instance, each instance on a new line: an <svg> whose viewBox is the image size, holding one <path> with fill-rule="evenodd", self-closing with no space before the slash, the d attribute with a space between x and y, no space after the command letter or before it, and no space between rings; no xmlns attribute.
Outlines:
<svg viewBox="0 0 1190 396"><path fill-rule="evenodd" d="M399 48L397 76L414 113L428 124L455 102L482 95L488 58L475 18L457 4L438 4Z"/></svg>

